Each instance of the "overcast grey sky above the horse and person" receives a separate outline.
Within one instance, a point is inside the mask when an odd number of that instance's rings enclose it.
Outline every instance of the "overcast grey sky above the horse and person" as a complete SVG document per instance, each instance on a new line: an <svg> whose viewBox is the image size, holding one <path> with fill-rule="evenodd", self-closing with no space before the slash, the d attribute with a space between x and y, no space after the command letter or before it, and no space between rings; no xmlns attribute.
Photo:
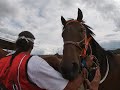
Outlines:
<svg viewBox="0 0 120 90"><path fill-rule="evenodd" d="M103 48L120 48L119 0L0 0L0 37L15 41L30 31L36 37L33 54L62 54L60 18L76 19L78 8Z"/></svg>

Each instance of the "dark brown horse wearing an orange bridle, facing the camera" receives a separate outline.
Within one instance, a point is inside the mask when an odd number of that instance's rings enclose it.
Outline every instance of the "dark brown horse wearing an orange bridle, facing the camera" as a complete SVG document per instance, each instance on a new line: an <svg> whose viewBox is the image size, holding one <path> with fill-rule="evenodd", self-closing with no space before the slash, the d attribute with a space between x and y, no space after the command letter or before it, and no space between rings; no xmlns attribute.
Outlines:
<svg viewBox="0 0 120 90"><path fill-rule="evenodd" d="M120 55L104 50L94 39L92 28L83 21L83 13L78 9L77 19L65 20L61 16L64 41L61 73L64 78L74 79L82 69L82 61L94 56L94 67L88 71L88 79L92 81L95 67L100 67L101 81L99 90L120 90ZM92 66L91 66L92 67Z"/></svg>

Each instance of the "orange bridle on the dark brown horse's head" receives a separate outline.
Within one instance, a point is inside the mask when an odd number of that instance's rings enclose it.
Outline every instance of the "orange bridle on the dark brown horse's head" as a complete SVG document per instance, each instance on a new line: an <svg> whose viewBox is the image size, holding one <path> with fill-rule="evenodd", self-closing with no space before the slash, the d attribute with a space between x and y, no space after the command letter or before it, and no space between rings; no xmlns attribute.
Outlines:
<svg viewBox="0 0 120 90"><path fill-rule="evenodd" d="M70 22L66 23L66 26L71 22L79 22L79 21L71 20ZM79 22L79 23L82 25L82 27L84 27L82 22ZM90 49L90 54L89 55L94 56L94 55L92 55L92 48L91 48L91 45L90 45L91 39L92 39L92 37L89 37L89 38L87 37L86 29L84 29L84 38L81 41L79 41L79 42L64 41L64 45L69 45L69 44L74 45L75 47L77 47L78 49L81 50L81 53L79 54L79 56L82 57L82 58L85 58L86 56L88 56L87 55L88 48ZM81 43L84 44L84 48L80 46ZM95 59L95 61L93 61L93 63L95 64L95 67L92 67L92 69L96 69L96 67L99 65L98 59L95 56L94 56L94 59ZM82 68L84 68L84 67L86 68L86 65L85 65L86 61L85 60L83 60L83 62L81 62L81 60L79 60L79 62L80 62L80 64L82 64L81 65ZM81 70L79 70L79 71L81 72Z"/></svg>

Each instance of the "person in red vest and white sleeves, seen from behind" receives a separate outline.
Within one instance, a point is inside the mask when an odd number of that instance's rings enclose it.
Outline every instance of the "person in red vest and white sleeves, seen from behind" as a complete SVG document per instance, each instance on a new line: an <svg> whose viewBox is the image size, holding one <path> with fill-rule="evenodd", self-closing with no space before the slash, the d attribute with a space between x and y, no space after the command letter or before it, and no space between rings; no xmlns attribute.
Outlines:
<svg viewBox="0 0 120 90"><path fill-rule="evenodd" d="M16 40L16 52L0 60L0 84L7 90L78 90L84 81L84 71L69 81L39 56L31 56L34 35L23 31ZM90 90L98 90L99 68L92 82L86 80Z"/></svg>

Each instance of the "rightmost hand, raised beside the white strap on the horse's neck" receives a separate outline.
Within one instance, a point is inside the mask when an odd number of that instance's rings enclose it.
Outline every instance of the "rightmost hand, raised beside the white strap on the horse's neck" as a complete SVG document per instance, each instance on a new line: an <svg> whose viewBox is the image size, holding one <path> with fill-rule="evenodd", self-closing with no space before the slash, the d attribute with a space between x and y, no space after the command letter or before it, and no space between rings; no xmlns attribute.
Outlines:
<svg viewBox="0 0 120 90"><path fill-rule="evenodd" d="M89 90L98 90L100 79L101 79L101 74L100 74L100 69L98 67L94 79L91 82L88 79L85 80Z"/></svg>

